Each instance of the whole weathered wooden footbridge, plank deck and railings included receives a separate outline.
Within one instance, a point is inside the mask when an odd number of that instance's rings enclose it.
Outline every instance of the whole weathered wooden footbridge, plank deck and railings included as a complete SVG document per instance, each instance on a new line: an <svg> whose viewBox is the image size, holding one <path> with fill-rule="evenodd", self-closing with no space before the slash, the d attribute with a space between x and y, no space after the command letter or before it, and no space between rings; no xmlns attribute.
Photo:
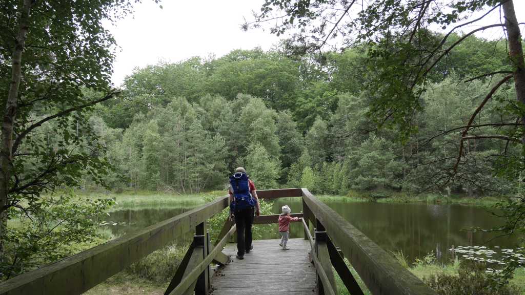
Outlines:
<svg viewBox="0 0 525 295"><path fill-rule="evenodd" d="M0 284L0 295L77 295L190 231L195 235L165 295L176 294L338 294L338 275L352 295L363 294L343 257L374 295L436 293L383 249L305 188L257 191L260 198L302 197L304 239L290 239L288 251L278 240L254 241L244 260L235 258L235 233L229 219L212 243L206 220L228 207L228 197L164 220L138 233L108 241L54 264ZM263 215L254 224L277 223ZM312 231L313 229L313 231ZM313 233L313 234L312 234ZM213 270L211 264L219 267ZM335 271L335 273L334 273Z"/></svg>

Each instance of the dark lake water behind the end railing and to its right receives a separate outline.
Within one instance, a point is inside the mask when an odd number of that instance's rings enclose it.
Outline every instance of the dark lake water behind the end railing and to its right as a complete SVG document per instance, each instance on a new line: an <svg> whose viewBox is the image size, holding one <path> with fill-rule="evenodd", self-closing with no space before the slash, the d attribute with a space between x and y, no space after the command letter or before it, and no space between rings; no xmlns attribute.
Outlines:
<svg viewBox="0 0 525 295"><path fill-rule="evenodd" d="M276 214L282 205L290 205L293 212L301 209L300 199L279 199L274 203ZM473 226L492 228L497 219L485 209L461 205L350 203L327 201L327 204L370 237L385 250L402 250L410 259L422 257L431 250L440 252L441 258L450 257L454 246L506 246L514 239L497 239L486 244L493 236L472 233ZM277 230L277 229L276 229ZM290 227L292 237L302 237L302 227Z"/></svg>

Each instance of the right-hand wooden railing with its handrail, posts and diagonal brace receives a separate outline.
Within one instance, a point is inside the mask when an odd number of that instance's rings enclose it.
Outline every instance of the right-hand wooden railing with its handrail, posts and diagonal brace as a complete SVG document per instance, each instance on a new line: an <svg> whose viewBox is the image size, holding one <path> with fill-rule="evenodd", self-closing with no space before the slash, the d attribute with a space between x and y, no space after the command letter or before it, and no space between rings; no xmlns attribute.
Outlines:
<svg viewBox="0 0 525 295"><path fill-rule="evenodd" d="M315 228L314 237L307 234L306 238L311 242L312 256L317 257L317 261L314 259L314 262L318 271L319 294L337 294L332 267L350 294L363 294L338 247L374 295L436 295L423 281L401 266L332 208L319 201L308 189L302 188L301 196L305 233L310 232L309 223ZM320 271L321 269L323 271Z"/></svg>

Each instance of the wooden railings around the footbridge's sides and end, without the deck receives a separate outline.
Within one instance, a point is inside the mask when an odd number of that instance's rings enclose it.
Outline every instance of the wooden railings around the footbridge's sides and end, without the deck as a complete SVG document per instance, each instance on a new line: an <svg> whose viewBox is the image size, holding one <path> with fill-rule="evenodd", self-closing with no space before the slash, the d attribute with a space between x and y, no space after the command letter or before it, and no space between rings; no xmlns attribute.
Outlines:
<svg viewBox="0 0 525 295"><path fill-rule="evenodd" d="M265 199L302 197L303 213L292 216L302 217L304 238L310 241L310 258L316 266L319 294L337 294L332 269L337 271L352 295L363 294L346 266L343 255L374 295L436 294L306 188L262 190L257 195ZM138 233L125 235L55 264L27 272L1 283L0 295L81 294L192 230L195 230L193 241L165 295L193 292L205 295L211 288L209 266L212 262L218 265L229 262L229 257L222 250L236 230L227 218L212 246L206 230L206 219L227 206L228 197L221 197ZM277 219L278 215L259 216L254 224L277 223ZM310 224L314 228L313 236Z"/></svg>

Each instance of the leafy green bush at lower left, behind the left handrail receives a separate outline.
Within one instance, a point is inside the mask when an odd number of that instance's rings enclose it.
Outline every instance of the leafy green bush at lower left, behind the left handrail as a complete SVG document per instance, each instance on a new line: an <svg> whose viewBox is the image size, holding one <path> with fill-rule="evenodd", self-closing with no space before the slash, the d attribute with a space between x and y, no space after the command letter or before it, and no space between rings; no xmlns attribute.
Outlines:
<svg viewBox="0 0 525 295"><path fill-rule="evenodd" d="M35 199L30 207L9 208L0 278L71 256L81 250L79 245L103 243L97 220L114 203L113 199L78 199L68 192Z"/></svg>

